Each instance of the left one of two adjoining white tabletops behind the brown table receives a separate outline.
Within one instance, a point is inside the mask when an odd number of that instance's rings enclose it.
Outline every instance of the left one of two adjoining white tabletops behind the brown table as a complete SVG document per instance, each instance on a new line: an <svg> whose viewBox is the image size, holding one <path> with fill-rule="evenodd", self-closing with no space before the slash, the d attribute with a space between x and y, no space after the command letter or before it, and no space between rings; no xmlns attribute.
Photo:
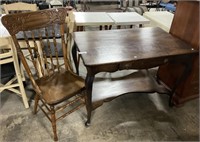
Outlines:
<svg viewBox="0 0 200 142"><path fill-rule="evenodd" d="M113 25L114 21L106 12L74 12L77 26Z"/></svg>

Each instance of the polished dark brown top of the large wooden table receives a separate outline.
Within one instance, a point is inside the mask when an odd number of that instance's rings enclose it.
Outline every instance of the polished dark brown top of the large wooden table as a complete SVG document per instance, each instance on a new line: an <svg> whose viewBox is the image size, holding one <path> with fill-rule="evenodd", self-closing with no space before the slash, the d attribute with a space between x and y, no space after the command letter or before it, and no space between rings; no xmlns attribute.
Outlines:
<svg viewBox="0 0 200 142"><path fill-rule="evenodd" d="M73 37L88 67L198 52L158 27L74 32Z"/></svg>

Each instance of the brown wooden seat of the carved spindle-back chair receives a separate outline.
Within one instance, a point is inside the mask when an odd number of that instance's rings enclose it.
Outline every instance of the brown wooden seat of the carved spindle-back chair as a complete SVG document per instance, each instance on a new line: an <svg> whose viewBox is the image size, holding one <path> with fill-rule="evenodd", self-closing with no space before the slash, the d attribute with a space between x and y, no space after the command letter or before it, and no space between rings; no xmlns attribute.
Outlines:
<svg viewBox="0 0 200 142"><path fill-rule="evenodd" d="M69 99L80 89L84 88L84 79L69 72L55 72L36 80L42 91L42 97L46 103L55 105L62 100Z"/></svg>

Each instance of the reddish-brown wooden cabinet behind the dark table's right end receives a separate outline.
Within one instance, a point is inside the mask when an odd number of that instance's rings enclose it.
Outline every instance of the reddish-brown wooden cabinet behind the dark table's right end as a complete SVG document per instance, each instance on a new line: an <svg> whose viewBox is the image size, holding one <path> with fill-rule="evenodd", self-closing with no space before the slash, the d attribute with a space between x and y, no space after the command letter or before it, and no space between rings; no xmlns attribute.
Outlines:
<svg viewBox="0 0 200 142"><path fill-rule="evenodd" d="M199 49L199 1L178 1L170 33ZM194 57L192 71L179 84L173 97L173 103L180 105L199 97L199 55ZM159 67L159 78L170 88L183 70L182 65L167 64Z"/></svg>

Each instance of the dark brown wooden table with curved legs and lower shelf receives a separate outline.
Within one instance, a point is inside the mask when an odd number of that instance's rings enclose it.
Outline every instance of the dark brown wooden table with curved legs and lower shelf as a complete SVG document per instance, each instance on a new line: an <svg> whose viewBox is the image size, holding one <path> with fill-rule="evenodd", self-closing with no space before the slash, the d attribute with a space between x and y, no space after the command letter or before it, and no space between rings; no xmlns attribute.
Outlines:
<svg viewBox="0 0 200 142"><path fill-rule="evenodd" d="M172 90L162 87L148 72L139 77L128 74L112 78L111 75L107 80L96 79L98 73L147 70L169 62L181 62L184 63L185 70L176 80L179 84L182 78L187 76L185 71L190 65L190 60L198 54L198 50L194 50L190 44L158 27L74 32L73 37L75 46L72 55L77 73L79 73L77 52L87 69L86 125L90 124L91 112L104 101L130 92L159 92L169 94L171 103L177 87L173 86Z"/></svg>

